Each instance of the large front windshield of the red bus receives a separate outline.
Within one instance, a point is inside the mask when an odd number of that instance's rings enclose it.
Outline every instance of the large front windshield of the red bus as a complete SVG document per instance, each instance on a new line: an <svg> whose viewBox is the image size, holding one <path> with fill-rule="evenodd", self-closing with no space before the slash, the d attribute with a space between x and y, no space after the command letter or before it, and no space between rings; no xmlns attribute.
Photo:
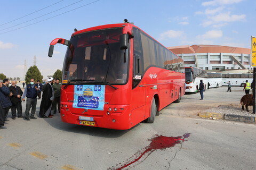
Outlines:
<svg viewBox="0 0 256 170"><path fill-rule="evenodd" d="M129 49L120 49L120 35L122 29L107 29L71 37L74 50L67 48L63 64L63 80L66 81L63 83L74 84L74 80L126 83Z"/></svg>

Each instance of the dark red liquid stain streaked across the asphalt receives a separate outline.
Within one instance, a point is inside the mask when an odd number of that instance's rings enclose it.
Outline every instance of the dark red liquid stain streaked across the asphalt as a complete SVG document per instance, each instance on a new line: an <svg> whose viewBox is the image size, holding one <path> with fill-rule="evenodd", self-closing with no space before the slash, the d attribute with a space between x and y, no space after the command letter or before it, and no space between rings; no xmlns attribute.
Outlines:
<svg viewBox="0 0 256 170"><path fill-rule="evenodd" d="M157 150L157 149L161 149L164 150L166 148L171 148L173 146L175 146L178 143L181 143L183 141L185 141L185 138L188 138L189 135L191 133L186 133L183 134L183 136L181 137L164 137L163 135L156 135L156 137L148 139L150 142L150 145L141 149L140 151L136 152L131 158L133 158L134 156L136 158L132 159L132 160L126 160L126 163L124 165L121 165L121 163L119 164L119 166L121 167L111 167L108 169L123 169L129 165L132 165L135 162L138 162L143 156L146 156L143 160L145 160L153 151ZM144 151L143 151L144 150ZM138 156L139 154L139 156ZM146 155L147 154L147 155ZM142 160L142 162L143 162ZM141 162L140 162L141 163ZM118 165L116 165L118 166Z"/></svg>

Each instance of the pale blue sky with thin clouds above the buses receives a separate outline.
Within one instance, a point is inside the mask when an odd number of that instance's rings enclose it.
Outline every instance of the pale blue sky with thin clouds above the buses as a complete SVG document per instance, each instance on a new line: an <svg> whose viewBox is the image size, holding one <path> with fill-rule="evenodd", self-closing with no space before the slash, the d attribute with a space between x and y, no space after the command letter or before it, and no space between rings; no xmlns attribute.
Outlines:
<svg viewBox="0 0 256 170"><path fill-rule="evenodd" d="M53 39L70 39L75 28L123 23L124 19L166 47L251 48L251 36L256 37L255 18L255 0L0 1L0 73L23 80L36 61L47 79L62 70L67 49L57 44L53 57L48 57Z"/></svg>

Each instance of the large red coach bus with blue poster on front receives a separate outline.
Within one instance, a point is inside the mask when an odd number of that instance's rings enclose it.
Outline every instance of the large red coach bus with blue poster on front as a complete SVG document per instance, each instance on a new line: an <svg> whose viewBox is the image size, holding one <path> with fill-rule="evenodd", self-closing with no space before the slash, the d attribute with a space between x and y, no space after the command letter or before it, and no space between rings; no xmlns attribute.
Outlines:
<svg viewBox="0 0 256 170"><path fill-rule="evenodd" d="M185 94L183 60L131 23L79 30L67 45L61 87L63 122L125 130Z"/></svg>

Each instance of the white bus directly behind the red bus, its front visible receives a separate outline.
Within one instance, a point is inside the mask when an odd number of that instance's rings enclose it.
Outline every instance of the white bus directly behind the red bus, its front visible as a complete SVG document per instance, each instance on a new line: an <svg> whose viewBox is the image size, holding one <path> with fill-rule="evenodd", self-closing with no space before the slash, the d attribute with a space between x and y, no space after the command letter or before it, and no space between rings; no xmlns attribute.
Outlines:
<svg viewBox="0 0 256 170"><path fill-rule="evenodd" d="M200 80L203 80L204 89L208 88L207 72L197 67L185 67L186 92L197 93Z"/></svg>

